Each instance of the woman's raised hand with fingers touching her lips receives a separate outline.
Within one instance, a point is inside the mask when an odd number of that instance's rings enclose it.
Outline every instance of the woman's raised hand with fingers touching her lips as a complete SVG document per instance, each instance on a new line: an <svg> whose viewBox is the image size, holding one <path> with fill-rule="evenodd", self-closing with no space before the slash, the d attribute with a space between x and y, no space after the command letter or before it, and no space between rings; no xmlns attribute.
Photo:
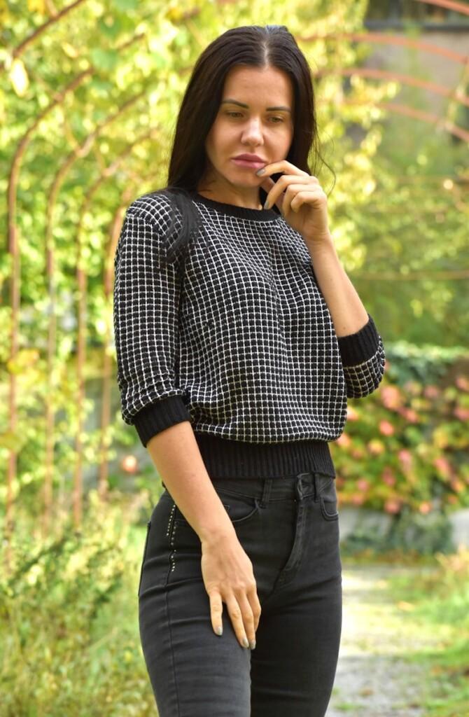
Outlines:
<svg viewBox="0 0 469 717"><path fill-rule="evenodd" d="M266 164L262 170L262 189L267 192L270 209L275 203L283 214L285 222L300 232L305 242L331 240L328 227L327 196L318 179L298 169L286 159ZM283 172L278 181L270 179L269 174Z"/></svg>

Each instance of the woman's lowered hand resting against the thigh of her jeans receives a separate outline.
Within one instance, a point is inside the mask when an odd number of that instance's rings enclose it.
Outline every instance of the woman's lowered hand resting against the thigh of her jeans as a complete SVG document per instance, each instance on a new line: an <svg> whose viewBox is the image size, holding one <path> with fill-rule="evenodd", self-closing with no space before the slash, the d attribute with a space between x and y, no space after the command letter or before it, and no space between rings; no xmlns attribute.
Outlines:
<svg viewBox="0 0 469 717"><path fill-rule="evenodd" d="M254 649L260 602L252 562L237 536L202 541L201 566L215 634L222 627L224 602L240 645ZM243 643L245 638L250 645Z"/></svg>

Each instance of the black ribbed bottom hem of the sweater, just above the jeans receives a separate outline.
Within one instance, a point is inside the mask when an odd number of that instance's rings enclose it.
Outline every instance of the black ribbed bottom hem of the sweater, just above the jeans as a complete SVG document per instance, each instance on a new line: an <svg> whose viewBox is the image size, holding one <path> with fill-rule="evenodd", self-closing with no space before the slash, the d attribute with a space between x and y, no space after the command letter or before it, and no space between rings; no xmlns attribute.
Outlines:
<svg viewBox="0 0 469 717"><path fill-rule="evenodd" d="M336 475L327 441L247 443L194 432L210 478L288 478Z"/></svg>

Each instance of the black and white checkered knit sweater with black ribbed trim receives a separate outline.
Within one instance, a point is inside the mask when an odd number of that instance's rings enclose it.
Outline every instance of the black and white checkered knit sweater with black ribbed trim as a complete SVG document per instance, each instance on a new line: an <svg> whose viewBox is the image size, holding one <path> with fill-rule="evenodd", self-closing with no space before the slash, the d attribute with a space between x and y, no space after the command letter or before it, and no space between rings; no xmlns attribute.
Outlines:
<svg viewBox="0 0 469 717"><path fill-rule="evenodd" d="M335 475L328 441L344 429L346 399L384 373L373 319L337 338L283 217L191 196L203 231L181 275L179 250L166 267L159 258L169 199L143 195L125 214L113 307L123 421L144 446L190 421L211 478Z"/></svg>

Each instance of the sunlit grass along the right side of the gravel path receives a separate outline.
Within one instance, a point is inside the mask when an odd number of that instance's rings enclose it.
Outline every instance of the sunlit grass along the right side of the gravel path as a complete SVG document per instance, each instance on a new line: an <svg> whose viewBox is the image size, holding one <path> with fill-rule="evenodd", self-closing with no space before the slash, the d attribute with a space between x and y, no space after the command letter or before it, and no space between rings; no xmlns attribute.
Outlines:
<svg viewBox="0 0 469 717"><path fill-rule="evenodd" d="M372 621L376 612L383 634L405 635L399 660L409 670L412 664L419 666L426 675L418 705L425 717L468 717L469 549L459 546L454 554L435 556L366 550L343 563L344 571L384 564L407 567L389 574L382 599L366 606L366 619Z"/></svg>

